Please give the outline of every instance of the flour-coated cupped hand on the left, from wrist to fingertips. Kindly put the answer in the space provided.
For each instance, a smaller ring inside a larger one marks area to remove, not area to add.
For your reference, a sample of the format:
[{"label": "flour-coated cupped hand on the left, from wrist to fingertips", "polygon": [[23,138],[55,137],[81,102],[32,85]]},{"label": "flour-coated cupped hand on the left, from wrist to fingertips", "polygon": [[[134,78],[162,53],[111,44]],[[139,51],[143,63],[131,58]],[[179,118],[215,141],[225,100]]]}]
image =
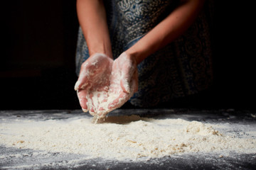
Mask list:
[{"label": "flour-coated cupped hand on the left, from wrist to fingertips", "polygon": [[112,63],[107,55],[96,53],[82,64],[75,90],[83,111],[89,110],[93,115],[102,110],[108,97]]}]

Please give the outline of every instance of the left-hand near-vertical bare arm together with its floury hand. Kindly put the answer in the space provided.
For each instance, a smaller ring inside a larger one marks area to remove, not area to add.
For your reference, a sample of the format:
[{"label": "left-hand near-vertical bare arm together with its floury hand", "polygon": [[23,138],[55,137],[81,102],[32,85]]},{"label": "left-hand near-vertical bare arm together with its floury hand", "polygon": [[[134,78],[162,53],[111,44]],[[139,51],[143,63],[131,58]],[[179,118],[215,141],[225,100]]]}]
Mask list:
[{"label": "left-hand near-vertical bare arm together with its floury hand", "polygon": [[[82,63],[75,90],[83,111],[94,113],[99,108],[93,103],[93,91],[107,86],[112,68],[112,48],[102,0],[77,0],[78,21],[85,36],[90,57]],[[91,89],[91,88],[94,89]],[[95,110],[96,109],[96,110]]]}]

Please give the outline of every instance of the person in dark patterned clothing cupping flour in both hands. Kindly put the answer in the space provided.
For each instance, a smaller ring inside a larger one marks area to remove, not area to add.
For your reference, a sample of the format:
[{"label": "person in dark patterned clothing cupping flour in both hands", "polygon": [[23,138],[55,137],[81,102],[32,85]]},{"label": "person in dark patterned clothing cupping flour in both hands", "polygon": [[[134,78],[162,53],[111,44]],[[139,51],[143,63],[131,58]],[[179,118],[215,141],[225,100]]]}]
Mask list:
[{"label": "person in dark patterned clothing cupping flour in both hands", "polygon": [[204,4],[78,0],[75,90],[82,110],[104,117],[128,100],[150,107],[207,89],[212,72]]}]

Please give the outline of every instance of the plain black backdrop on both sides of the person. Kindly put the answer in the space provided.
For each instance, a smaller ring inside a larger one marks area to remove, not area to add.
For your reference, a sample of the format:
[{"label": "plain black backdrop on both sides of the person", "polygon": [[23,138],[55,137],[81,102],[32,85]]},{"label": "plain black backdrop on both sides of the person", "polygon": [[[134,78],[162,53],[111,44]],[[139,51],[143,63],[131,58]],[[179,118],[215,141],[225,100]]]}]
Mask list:
[{"label": "plain black backdrop on both sides of the person", "polygon": [[[77,80],[75,3],[2,2],[0,110],[80,108],[73,90]],[[255,110],[255,39],[249,8],[235,1],[215,1],[214,84],[208,91],[164,107]]]}]

